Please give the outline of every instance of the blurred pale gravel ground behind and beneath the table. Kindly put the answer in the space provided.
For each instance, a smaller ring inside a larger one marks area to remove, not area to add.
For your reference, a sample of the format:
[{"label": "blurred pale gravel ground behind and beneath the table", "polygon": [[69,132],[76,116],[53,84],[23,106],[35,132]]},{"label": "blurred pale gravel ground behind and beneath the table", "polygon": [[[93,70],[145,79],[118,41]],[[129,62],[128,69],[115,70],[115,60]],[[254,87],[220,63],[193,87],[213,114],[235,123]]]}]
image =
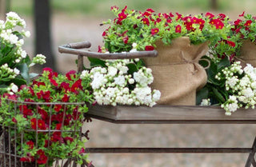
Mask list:
[{"label": "blurred pale gravel ground behind and beneath the table", "polygon": [[[52,20],[54,53],[58,70],[76,70],[76,56],[58,54],[58,46],[70,42],[90,41],[91,50],[102,45],[101,20],[86,16],[54,15]],[[33,54],[33,24],[26,19],[32,36],[26,40],[28,54]],[[86,123],[90,140],[86,147],[251,147],[256,125],[115,125],[93,120]],[[97,167],[241,167],[248,154],[90,154]]]}]

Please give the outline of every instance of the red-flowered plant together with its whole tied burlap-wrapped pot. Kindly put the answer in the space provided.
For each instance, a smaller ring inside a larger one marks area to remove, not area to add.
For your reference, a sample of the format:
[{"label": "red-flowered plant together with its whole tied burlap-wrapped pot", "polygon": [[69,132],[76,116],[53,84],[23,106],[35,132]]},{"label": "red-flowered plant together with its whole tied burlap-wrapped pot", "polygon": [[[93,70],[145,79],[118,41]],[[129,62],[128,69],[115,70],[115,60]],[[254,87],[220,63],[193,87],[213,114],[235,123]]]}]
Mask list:
[{"label": "red-flowered plant together with its whole tied burlap-wrapped pot", "polygon": [[[152,69],[153,89],[162,97],[158,104],[194,105],[196,89],[206,84],[206,72],[198,60],[208,51],[208,45],[227,39],[229,18],[225,14],[199,15],[155,14],[111,7],[117,18],[103,22],[109,27],[103,32],[105,46],[101,52],[158,51],[157,58],[143,61]],[[175,79],[173,79],[175,78]]]}]

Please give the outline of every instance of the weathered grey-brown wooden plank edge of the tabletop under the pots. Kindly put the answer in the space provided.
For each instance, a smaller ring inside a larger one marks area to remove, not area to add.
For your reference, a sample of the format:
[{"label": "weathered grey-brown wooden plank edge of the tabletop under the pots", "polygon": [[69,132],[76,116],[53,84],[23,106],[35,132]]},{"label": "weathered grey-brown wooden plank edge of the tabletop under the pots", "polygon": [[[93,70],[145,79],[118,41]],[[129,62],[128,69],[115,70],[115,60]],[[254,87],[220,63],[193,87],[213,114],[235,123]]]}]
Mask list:
[{"label": "weathered grey-brown wooden plank edge of the tabletop under the pots", "polygon": [[152,123],[171,123],[170,121],[187,123],[256,123],[256,109],[238,109],[231,116],[226,116],[224,109],[214,106],[170,106],[157,105],[152,108],[146,106],[110,106],[95,105],[89,109],[90,117],[106,119],[115,123],[138,123],[141,121]]}]

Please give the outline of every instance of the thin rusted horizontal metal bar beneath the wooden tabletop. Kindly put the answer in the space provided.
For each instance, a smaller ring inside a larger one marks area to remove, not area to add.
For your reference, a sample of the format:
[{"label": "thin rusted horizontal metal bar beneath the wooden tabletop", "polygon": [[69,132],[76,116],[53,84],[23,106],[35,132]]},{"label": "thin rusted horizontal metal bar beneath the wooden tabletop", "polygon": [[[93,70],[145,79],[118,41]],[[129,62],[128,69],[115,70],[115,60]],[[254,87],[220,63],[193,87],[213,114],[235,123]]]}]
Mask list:
[{"label": "thin rusted horizontal metal bar beneath the wooden tabletop", "polygon": [[251,153],[251,148],[87,148],[87,153]]}]

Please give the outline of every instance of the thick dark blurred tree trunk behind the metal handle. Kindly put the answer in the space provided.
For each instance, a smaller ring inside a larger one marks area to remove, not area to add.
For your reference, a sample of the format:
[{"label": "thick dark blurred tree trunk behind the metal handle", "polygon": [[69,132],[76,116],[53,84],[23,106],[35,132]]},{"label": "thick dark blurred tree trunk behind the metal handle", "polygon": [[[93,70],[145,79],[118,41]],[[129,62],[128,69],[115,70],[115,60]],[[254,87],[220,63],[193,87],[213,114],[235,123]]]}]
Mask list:
[{"label": "thick dark blurred tree trunk behind the metal handle", "polygon": [[[50,16],[50,0],[34,0],[35,54],[44,54],[46,56],[44,67],[56,70],[52,51]],[[41,72],[42,66],[36,66],[36,69]]]}]

